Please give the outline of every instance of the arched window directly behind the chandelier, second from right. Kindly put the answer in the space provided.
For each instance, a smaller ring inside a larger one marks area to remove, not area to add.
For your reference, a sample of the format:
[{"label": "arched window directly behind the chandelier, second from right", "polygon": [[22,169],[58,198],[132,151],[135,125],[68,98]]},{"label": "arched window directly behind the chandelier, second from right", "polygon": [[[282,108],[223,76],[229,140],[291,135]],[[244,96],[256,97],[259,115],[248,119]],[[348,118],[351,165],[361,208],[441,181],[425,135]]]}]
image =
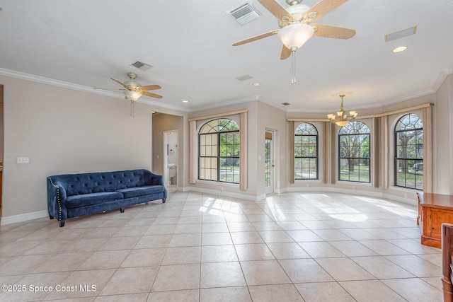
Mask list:
[{"label": "arched window directly behind the chandelier, second from right", "polygon": [[369,128],[363,122],[350,122],[338,132],[338,179],[370,182]]}]

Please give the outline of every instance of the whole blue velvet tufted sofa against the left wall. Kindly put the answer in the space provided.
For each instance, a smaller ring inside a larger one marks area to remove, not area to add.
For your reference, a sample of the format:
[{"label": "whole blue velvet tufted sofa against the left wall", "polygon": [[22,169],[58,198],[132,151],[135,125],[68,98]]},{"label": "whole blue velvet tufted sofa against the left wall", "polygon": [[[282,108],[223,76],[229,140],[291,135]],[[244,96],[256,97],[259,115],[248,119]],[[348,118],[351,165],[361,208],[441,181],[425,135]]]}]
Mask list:
[{"label": "whole blue velvet tufted sofa against the left wall", "polygon": [[167,190],[162,175],[149,170],[52,175],[47,177],[47,211],[59,226],[69,218],[120,209],[162,199]]}]

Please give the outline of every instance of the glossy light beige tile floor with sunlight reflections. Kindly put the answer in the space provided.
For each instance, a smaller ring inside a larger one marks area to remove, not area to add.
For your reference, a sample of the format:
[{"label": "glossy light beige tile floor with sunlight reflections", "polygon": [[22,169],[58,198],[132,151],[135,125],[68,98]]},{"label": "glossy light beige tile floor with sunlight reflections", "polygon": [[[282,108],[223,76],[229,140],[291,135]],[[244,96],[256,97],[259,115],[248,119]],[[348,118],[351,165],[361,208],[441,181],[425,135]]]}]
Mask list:
[{"label": "glossy light beige tile floor with sunlight reflections", "polygon": [[416,216],[359,195],[173,191],[63,228],[9,224],[0,301],[442,301],[441,251]]}]

